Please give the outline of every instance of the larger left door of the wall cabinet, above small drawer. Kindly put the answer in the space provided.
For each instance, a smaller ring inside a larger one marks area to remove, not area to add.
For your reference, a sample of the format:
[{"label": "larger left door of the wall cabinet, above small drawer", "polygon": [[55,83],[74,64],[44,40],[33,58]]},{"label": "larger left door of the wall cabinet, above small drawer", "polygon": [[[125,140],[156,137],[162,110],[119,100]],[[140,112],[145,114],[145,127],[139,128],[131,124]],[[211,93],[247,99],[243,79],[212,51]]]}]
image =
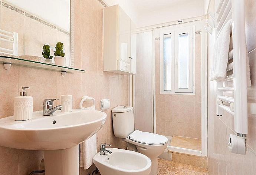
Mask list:
[{"label": "larger left door of the wall cabinet, above small drawer", "polygon": [[124,10],[119,7],[118,18],[118,60],[122,60],[130,64],[131,59],[131,20]]}]

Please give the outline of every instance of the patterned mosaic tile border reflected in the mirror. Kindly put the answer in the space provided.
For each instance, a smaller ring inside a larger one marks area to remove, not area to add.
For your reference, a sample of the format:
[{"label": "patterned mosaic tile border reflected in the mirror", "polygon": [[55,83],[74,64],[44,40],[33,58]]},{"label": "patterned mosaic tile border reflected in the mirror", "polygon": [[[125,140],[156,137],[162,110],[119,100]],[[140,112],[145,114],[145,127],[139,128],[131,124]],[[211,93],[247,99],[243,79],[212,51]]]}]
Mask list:
[{"label": "patterned mosaic tile border reflected in the mirror", "polygon": [[[98,1],[102,1],[102,0],[98,0]],[[102,2],[103,2],[103,1],[102,1]],[[104,3],[104,2],[103,2],[103,3]],[[36,16],[34,16],[34,15],[32,15],[32,14],[29,14],[29,13],[23,11],[23,10],[20,10],[20,9],[18,9],[17,7],[14,7],[14,6],[10,5],[10,4],[7,4],[7,3],[5,3],[5,2],[3,2],[3,1],[1,1],[1,0],[0,0],[0,5],[6,7],[7,9],[14,10],[14,11],[20,13],[20,14],[23,14],[23,15],[25,15],[26,17],[29,17],[29,18],[31,18],[31,19],[33,19],[33,20],[36,20],[36,21],[39,22],[39,23],[45,24],[46,26],[52,27],[53,29],[56,29],[56,30],[58,30],[59,32],[62,32],[62,33],[65,33],[65,34],[69,35],[69,32],[67,32],[66,30],[60,29],[59,27],[56,27],[55,25],[53,25],[53,24],[51,24],[51,23],[48,23],[48,22],[46,22],[46,21],[44,21],[44,20],[42,20],[42,19],[40,19],[40,18],[38,18],[38,17],[36,17]]]}]

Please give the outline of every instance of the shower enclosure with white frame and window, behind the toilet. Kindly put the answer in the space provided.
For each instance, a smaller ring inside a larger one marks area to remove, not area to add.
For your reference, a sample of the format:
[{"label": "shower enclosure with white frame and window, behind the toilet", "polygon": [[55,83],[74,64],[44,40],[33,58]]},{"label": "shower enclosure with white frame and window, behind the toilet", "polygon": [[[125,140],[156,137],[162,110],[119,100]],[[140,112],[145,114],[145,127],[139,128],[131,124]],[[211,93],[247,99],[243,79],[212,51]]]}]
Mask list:
[{"label": "shower enclosure with white frame and window, behind the toilet", "polygon": [[166,136],[168,151],[200,156],[207,154],[203,23],[137,33],[137,75],[132,77],[135,129]]}]

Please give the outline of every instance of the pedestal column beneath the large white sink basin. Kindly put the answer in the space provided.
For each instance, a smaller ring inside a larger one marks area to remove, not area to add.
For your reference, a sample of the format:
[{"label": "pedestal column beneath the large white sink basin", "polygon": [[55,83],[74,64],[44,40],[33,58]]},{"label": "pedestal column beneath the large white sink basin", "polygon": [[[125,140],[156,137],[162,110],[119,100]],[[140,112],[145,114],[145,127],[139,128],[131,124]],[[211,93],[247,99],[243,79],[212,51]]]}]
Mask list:
[{"label": "pedestal column beneath the large white sink basin", "polygon": [[79,145],[44,151],[45,175],[79,175]]}]

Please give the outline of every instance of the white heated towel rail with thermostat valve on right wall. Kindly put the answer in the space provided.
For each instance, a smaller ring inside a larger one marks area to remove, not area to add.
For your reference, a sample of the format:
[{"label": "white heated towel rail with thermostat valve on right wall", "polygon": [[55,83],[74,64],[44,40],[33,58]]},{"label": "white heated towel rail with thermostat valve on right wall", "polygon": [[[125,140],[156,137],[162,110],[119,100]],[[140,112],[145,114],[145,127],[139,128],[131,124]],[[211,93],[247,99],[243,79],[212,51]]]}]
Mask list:
[{"label": "white heated towel rail with thermostat valve on right wall", "polygon": [[232,49],[229,52],[227,76],[217,82],[218,116],[226,111],[234,116],[234,130],[237,135],[229,135],[229,150],[246,153],[247,125],[247,75],[244,0],[220,0],[216,10],[216,39],[224,25],[232,19]]}]

